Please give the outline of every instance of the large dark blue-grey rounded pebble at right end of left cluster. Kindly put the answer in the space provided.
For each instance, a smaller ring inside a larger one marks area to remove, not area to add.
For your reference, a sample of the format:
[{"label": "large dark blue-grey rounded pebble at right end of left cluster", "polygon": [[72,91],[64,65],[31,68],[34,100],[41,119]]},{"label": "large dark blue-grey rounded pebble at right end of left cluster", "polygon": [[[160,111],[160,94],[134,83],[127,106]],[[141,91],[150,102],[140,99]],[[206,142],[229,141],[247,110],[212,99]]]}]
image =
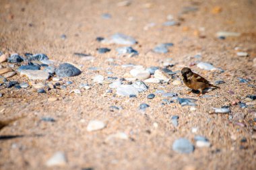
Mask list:
[{"label": "large dark blue-grey rounded pebble at right end of left cluster", "polygon": [[69,63],[64,63],[56,69],[56,75],[59,77],[73,77],[81,73],[79,69]]}]

